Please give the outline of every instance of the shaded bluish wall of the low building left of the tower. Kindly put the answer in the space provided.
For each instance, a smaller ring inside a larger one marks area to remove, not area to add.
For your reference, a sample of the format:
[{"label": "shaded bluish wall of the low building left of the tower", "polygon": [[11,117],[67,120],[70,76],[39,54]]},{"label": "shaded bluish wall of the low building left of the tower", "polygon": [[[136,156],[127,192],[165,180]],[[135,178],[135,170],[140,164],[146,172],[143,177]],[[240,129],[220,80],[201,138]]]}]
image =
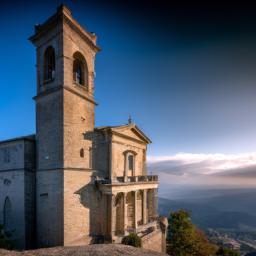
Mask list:
[{"label": "shaded bluish wall of the low building left of the tower", "polygon": [[0,143],[0,223],[8,198],[6,229],[12,231],[17,248],[31,248],[34,236],[35,208],[35,145],[34,140],[14,139]]}]

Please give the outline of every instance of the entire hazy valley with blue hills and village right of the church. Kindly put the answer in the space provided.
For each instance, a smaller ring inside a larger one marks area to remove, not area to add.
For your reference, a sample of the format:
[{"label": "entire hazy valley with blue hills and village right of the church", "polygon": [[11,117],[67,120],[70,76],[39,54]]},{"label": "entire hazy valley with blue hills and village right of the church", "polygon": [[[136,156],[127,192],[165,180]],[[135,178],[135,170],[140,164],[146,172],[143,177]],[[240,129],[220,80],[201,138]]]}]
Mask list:
[{"label": "entire hazy valley with blue hills and village right of the church", "polygon": [[190,188],[178,193],[165,188],[159,192],[159,214],[186,209],[211,242],[246,255],[256,252],[255,195],[256,189]]}]

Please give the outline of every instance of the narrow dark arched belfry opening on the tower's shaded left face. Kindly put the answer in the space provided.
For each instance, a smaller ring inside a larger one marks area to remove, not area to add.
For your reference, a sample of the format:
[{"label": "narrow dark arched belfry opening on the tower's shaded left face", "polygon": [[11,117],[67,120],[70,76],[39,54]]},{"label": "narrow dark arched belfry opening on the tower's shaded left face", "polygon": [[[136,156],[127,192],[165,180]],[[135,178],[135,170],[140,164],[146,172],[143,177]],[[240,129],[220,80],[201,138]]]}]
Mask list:
[{"label": "narrow dark arched belfry opening on the tower's shaded left face", "polygon": [[44,53],[44,81],[55,77],[55,52],[52,46],[47,47]]}]

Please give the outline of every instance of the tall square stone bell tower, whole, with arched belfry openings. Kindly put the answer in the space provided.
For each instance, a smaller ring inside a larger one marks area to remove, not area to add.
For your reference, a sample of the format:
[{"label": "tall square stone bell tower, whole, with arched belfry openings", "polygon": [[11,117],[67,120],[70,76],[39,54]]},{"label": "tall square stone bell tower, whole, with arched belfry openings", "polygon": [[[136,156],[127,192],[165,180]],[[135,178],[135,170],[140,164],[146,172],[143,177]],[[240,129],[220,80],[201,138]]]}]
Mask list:
[{"label": "tall square stone bell tower, whole, with arched belfry openings", "polygon": [[[88,243],[93,189],[96,36],[60,6],[35,26],[36,226],[38,246]],[[90,206],[89,206],[90,205]]]}]

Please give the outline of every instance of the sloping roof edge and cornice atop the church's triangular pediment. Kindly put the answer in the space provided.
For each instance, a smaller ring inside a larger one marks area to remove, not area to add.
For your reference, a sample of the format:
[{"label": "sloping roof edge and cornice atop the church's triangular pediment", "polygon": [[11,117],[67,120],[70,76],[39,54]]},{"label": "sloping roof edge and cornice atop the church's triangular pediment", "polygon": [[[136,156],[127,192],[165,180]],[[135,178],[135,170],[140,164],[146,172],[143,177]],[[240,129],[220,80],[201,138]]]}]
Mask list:
[{"label": "sloping roof edge and cornice atop the church's triangular pediment", "polygon": [[125,124],[125,125],[116,125],[116,126],[100,126],[95,128],[96,131],[107,131],[107,132],[115,132],[115,133],[120,133],[121,130],[126,130],[126,129],[132,130],[147,144],[152,143],[152,141],[145,135],[145,133],[143,133],[142,130],[139,129],[139,127],[134,123]]}]

